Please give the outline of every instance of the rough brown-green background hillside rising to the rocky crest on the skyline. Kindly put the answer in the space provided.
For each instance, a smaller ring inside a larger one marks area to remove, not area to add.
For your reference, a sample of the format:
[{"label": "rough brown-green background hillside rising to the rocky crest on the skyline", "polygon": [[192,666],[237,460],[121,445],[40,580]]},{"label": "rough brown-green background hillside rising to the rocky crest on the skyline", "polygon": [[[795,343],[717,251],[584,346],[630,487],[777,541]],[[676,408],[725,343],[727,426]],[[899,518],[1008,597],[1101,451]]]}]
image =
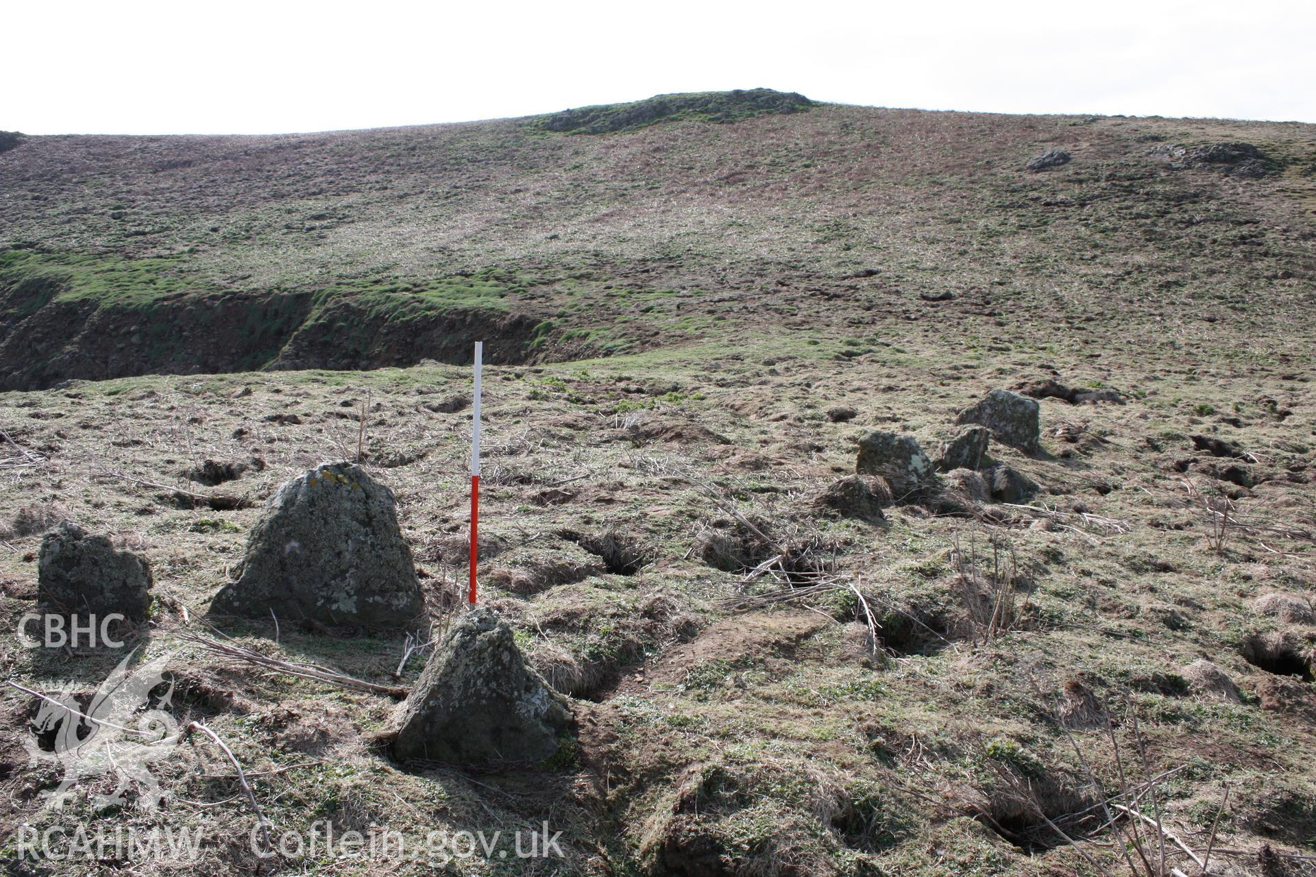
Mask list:
[{"label": "rough brown-green background hillside rising to the rocky crest on the skyline", "polygon": [[[759,97],[287,137],[21,138],[0,156],[0,364],[32,387],[426,358],[371,335],[308,363],[299,333],[326,308],[434,339],[462,334],[457,316],[521,314],[538,333],[505,362],[728,326],[859,338],[932,329],[920,296],[942,291],[954,298],[934,306],[937,329],[966,343],[1029,322],[1061,343],[1213,359],[1273,352],[1262,339],[1305,305],[1311,126],[744,95]],[[1263,176],[1202,160],[1237,141],[1259,150]],[[1025,170],[1057,149],[1073,160]],[[208,308],[237,308],[253,329],[213,350],[108,341],[143,321],[204,335]],[[21,341],[33,337],[36,356]]]}]

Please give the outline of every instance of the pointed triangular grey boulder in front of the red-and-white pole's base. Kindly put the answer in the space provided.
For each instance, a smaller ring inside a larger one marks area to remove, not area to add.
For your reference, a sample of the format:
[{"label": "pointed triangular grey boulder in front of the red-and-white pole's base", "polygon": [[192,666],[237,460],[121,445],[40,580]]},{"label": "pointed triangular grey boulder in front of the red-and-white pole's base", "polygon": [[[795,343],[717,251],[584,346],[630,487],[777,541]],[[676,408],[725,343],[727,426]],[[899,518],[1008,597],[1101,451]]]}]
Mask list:
[{"label": "pointed triangular grey boulder in front of the red-and-white pole's base", "polygon": [[541,761],[574,721],[492,609],[458,621],[403,705],[393,756],[449,764]]}]

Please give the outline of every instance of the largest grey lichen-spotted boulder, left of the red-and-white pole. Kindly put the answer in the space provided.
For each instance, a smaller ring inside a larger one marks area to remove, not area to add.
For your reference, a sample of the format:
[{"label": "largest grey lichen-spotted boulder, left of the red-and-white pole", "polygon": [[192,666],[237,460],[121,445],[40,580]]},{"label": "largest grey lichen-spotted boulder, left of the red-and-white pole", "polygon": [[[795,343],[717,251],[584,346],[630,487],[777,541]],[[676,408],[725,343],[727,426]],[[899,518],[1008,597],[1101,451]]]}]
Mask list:
[{"label": "largest grey lichen-spotted boulder, left of the red-and-white pole", "polygon": [[325,463],[274,494],[238,580],[213,609],[234,615],[403,630],[425,600],[392,492],[351,463]]}]

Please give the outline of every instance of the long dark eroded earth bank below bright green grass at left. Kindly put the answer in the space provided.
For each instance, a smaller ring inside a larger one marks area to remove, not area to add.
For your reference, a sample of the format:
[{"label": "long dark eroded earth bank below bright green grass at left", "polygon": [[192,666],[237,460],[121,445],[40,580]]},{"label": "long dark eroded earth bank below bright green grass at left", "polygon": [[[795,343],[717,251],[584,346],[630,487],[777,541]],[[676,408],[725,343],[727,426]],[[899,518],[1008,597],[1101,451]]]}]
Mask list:
[{"label": "long dark eroded earth bank below bright green grass at left", "polygon": [[32,301],[26,287],[0,285],[0,372],[7,375],[0,389],[147,373],[370,369],[422,359],[463,364],[471,360],[475,341],[486,341],[488,363],[583,352],[580,344],[536,346],[545,330],[532,313],[482,308],[408,313],[403,304],[387,310],[350,295],[324,306],[311,293],[179,295],[153,302],[150,321],[143,322],[141,310],[129,305],[97,308],[76,298],[47,304]]}]

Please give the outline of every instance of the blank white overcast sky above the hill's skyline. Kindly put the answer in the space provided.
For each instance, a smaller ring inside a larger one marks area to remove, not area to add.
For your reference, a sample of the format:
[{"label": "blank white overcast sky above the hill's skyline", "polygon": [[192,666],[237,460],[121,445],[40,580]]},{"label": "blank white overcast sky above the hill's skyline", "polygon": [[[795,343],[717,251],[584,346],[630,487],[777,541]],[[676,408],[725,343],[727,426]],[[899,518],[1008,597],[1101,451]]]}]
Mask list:
[{"label": "blank white overcast sky above the hill's skyline", "polygon": [[0,130],[29,134],[379,128],[755,87],[879,107],[1316,122],[1312,0],[0,9]]}]

